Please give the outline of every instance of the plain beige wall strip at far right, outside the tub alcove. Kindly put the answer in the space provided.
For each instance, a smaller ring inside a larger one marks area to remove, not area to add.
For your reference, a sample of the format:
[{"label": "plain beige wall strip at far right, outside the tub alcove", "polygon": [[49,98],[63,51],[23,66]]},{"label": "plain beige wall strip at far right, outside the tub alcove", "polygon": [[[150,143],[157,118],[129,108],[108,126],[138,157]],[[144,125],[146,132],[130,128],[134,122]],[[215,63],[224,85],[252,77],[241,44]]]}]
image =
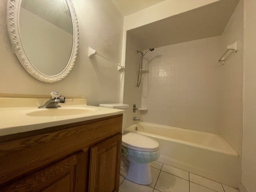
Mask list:
[{"label": "plain beige wall strip at far right, outside the tub alcove", "polygon": [[256,191],[256,1],[245,0],[242,184]]}]

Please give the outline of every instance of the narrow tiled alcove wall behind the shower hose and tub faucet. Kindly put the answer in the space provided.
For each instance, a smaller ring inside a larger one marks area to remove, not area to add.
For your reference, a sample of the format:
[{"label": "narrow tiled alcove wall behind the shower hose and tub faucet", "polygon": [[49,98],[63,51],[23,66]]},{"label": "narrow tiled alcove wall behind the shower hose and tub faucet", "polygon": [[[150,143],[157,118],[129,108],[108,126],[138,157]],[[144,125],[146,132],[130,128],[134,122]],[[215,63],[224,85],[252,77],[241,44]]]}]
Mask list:
[{"label": "narrow tiled alcove wall behind the shower hose and tub faucet", "polygon": [[140,50],[142,47],[136,42],[136,40],[127,34],[126,43],[126,61],[125,61],[125,75],[124,75],[124,103],[130,105],[128,116],[125,122],[125,127],[138,123],[133,121],[133,117],[140,118],[140,111],[133,113],[133,104],[136,107],[141,107],[141,91],[142,83],[140,87],[137,87],[138,67],[140,62],[140,53],[136,53],[136,50]]}]

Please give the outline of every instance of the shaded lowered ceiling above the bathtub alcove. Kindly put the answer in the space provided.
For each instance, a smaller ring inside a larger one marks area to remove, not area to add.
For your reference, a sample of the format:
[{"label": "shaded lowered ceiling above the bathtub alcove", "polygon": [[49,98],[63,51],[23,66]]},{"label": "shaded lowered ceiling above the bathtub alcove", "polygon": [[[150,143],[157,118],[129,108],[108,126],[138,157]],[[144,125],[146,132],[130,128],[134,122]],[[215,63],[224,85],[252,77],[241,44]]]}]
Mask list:
[{"label": "shaded lowered ceiling above the bathtub alcove", "polygon": [[128,33],[143,49],[161,47],[221,35],[239,0],[221,0],[184,12]]}]

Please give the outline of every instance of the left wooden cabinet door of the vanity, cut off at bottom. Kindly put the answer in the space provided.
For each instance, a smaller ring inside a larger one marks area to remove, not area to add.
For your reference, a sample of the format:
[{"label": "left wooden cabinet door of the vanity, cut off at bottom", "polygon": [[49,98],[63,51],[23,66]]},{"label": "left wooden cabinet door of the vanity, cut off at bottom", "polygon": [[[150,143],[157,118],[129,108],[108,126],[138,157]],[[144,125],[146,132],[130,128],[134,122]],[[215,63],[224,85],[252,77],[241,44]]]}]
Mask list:
[{"label": "left wooden cabinet door of the vanity, cut off at bottom", "polygon": [[16,178],[0,188],[0,192],[84,192],[87,162],[88,153],[74,154],[39,171]]}]

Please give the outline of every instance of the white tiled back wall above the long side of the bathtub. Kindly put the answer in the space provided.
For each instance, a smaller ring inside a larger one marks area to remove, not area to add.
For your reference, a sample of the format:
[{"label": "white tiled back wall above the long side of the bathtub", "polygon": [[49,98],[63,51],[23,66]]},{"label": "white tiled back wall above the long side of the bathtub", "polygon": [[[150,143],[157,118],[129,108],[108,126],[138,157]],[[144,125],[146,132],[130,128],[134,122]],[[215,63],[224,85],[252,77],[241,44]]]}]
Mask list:
[{"label": "white tiled back wall above the long side of the bathtub", "polygon": [[220,36],[156,48],[144,68],[143,121],[218,133]]}]

